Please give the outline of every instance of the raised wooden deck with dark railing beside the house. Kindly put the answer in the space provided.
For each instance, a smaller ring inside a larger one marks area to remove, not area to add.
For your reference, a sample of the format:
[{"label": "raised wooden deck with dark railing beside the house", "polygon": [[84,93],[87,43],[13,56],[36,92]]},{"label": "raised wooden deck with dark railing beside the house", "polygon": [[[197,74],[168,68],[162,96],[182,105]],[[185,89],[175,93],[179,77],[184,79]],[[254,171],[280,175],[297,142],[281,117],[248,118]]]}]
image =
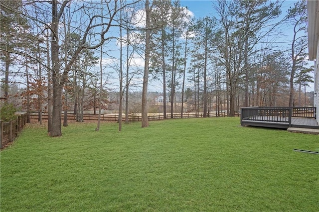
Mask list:
[{"label": "raised wooden deck with dark railing beside the house", "polygon": [[314,107],[245,107],[241,125],[288,129],[289,127],[319,129]]}]

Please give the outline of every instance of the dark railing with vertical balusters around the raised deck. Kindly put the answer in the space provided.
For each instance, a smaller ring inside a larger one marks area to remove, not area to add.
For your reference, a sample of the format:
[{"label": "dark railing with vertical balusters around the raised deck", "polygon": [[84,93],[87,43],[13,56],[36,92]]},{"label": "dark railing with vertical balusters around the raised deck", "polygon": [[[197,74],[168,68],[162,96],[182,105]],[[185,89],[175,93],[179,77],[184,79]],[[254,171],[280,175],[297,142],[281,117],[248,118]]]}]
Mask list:
[{"label": "dark railing with vertical balusters around the raised deck", "polygon": [[316,107],[242,107],[243,120],[289,123],[292,117],[316,118]]}]

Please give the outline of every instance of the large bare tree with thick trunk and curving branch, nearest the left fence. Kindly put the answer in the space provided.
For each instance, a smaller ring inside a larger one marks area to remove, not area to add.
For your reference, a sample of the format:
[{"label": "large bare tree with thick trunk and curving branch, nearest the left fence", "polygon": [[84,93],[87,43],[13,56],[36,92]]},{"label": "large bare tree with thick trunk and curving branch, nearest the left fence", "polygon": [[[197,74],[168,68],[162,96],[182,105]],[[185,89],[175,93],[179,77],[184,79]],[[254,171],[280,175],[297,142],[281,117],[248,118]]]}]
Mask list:
[{"label": "large bare tree with thick trunk and curving branch, nearest the left fence", "polygon": [[[88,17],[88,21],[85,24],[85,29],[83,30],[83,35],[81,38],[81,41],[77,47],[77,49],[74,52],[74,55],[70,58],[67,64],[65,64],[64,71],[60,72],[61,65],[59,60],[59,28],[58,24],[61,21],[61,16],[66,8],[67,4],[69,3],[69,0],[64,0],[62,3],[60,3],[57,0],[51,1],[51,10],[52,10],[52,19],[51,24],[47,25],[44,21],[41,21],[42,24],[46,24],[48,28],[51,30],[51,61],[52,61],[52,86],[53,86],[53,110],[52,110],[52,126],[49,129],[50,136],[60,136],[62,135],[61,132],[61,110],[62,110],[62,88],[65,84],[66,80],[68,79],[68,73],[72,70],[72,65],[76,61],[76,58],[78,55],[85,49],[96,49],[99,48],[103,43],[110,39],[115,39],[114,36],[106,37],[108,32],[110,31],[110,28],[112,26],[118,26],[117,23],[114,22],[115,15],[123,8],[126,7],[126,5],[123,5],[122,7],[118,6],[117,1],[111,1],[106,2],[105,8],[107,8],[108,14],[104,16],[104,20],[106,21],[96,21],[98,18],[101,17],[100,14],[90,14],[85,10],[84,13]],[[83,2],[85,3],[85,2]],[[135,2],[130,2],[128,4],[134,4]],[[79,10],[85,9],[85,6],[78,7]],[[92,11],[92,10],[91,10]],[[32,17],[30,17],[32,18]],[[104,28],[104,31],[100,34],[97,34],[94,32],[94,30],[98,27],[106,26]],[[91,32],[94,32],[96,36],[100,36],[99,40],[97,42],[88,44],[87,39]]]}]

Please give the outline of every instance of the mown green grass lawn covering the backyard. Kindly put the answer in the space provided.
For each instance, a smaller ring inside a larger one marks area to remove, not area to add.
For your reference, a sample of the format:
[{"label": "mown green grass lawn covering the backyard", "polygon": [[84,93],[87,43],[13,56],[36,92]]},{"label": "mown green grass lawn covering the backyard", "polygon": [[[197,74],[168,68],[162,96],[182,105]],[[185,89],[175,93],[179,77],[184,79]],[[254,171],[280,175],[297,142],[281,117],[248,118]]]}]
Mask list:
[{"label": "mown green grass lawn covering the backyard", "polygon": [[1,151],[6,211],[318,211],[319,136],[239,118],[26,127]]}]

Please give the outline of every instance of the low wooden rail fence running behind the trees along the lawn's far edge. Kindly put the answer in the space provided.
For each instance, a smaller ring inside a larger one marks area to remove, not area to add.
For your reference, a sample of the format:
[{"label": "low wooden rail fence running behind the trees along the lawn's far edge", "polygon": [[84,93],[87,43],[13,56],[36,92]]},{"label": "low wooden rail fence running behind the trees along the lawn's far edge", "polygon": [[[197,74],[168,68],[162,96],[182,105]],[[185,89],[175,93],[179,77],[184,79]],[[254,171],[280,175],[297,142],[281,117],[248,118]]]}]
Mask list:
[{"label": "low wooden rail fence running behind the trees along the lawn's far edge", "polygon": [[[212,112],[212,113],[207,113],[207,117],[218,117],[218,116],[227,116],[227,112],[225,111],[219,111],[217,112]],[[76,114],[73,113],[68,113],[67,115],[68,120],[76,120]],[[182,118],[198,118],[198,117],[203,117],[203,113],[183,113]],[[38,119],[38,113],[37,112],[32,112],[30,113],[30,118],[31,119]],[[61,114],[61,118],[63,119],[63,114]],[[83,120],[98,120],[99,115],[98,114],[83,114]],[[164,119],[163,114],[154,114],[154,115],[149,115],[148,116],[150,121],[153,120],[161,120]],[[166,114],[166,118],[171,118],[170,113]],[[172,118],[181,118],[180,113],[174,113]],[[48,119],[48,114],[47,113],[42,113],[42,119],[47,120]],[[142,117],[140,114],[129,114],[128,115],[129,121],[141,121]],[[102,114],[101,115],[101,121],[118,121],[119,120],[119,115],[118,114]],[[122,115],[122,120],[125,121],[125,115]]]}]

